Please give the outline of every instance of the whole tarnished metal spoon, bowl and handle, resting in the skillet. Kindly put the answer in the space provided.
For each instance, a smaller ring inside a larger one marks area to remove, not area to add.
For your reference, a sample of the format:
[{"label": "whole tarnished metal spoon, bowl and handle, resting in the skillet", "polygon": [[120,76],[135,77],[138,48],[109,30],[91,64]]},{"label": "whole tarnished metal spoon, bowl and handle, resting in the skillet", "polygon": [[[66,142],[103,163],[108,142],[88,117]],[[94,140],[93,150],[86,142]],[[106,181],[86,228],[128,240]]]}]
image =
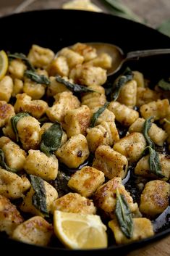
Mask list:
[{"label": "whole tarnished metal spoon, bowl and handle, resting in the skillet", "polygon": [[149,57],[159,54],[170,54],[170,49],[150,49],[150,50],[140,50],[140,51],[129,51],[126,55],[119,46],[114,44],[106,43],[85,43],[93,46],[97,53],[102,52],[108,53],[112,57],[112,65],[109,70],[107,70],[107,75],[113,75],[116,73],[123,65],[124,62],[130,59],[139,59],[140,57]]}]

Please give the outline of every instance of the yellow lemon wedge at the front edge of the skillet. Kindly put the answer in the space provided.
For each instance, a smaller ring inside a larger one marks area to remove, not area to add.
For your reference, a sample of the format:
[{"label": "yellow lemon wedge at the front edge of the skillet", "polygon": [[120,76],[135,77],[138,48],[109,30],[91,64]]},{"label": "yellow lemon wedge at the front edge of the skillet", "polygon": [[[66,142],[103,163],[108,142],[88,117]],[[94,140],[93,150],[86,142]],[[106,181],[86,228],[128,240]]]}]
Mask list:
[{"label": "yellow lemon wedge at the front edge of the skillet", "polygon": [[106,226],[98,215],[54,211],[54,233],[71,249],[107,247]]}]

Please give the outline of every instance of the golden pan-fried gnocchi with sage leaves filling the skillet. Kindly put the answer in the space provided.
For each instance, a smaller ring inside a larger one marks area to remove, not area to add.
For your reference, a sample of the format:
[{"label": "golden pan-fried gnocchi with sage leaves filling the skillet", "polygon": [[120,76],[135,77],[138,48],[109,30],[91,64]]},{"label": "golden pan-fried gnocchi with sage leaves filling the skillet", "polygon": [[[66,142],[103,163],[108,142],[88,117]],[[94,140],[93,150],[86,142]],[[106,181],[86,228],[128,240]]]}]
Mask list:
[{"label": "golden pan-fried gnocchi with sage leaves filling the skillet", "polygon": [[159,232],[170,197],[166,91],[140,70],[108,80],[112,57],[80,42],[12,56],[0,80],[0,232],[51,246],[66,213],[100,217],[112,244]]}]

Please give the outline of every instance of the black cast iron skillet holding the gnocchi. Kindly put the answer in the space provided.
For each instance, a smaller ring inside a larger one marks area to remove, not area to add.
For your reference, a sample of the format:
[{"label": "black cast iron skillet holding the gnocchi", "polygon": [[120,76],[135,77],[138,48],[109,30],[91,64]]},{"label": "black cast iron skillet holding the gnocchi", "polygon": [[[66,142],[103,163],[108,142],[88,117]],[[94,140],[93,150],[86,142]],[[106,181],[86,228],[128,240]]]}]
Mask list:
[{"label": "black cast iron skillet holding the gnocchi", "polygon": [[[140,49],[170,48],[170,38],[137,22],[95,12],[73,10],[43,10],[10,15],[0,19],[0,49],[27,54],[32,44],[58,51],[76,42],[103,41],[120,46],[124,53]],[[145,77],[156,80],[170,73],[170,54],[129,62],[133,70],[140,70]],[[127,64],[126,64],[127,65]],[[123,68],[123,67],[122,67]],[[38,247],[0,238],[1,252],[17,255],[124,255],[128,251],[152,244],[170,234],[170,228],[132,244],[111,246],[108,249],[69,250],[59,246]]]}]

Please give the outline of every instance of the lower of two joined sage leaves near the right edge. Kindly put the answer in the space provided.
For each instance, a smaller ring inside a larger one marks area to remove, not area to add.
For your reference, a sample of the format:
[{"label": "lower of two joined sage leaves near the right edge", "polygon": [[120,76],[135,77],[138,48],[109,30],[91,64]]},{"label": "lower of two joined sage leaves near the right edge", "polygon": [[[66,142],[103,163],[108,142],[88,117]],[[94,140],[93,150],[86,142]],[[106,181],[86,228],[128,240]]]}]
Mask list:
[{"label": "lower of two joined sage leaves near the right edge", "polygon": [[147,146],[146,149],[149,149],[150,173],[155,174],[159,178],[165,178],[165,176],[162,174],[158,152],[156,152],[156,150],[152,149],[150,146]]}]

